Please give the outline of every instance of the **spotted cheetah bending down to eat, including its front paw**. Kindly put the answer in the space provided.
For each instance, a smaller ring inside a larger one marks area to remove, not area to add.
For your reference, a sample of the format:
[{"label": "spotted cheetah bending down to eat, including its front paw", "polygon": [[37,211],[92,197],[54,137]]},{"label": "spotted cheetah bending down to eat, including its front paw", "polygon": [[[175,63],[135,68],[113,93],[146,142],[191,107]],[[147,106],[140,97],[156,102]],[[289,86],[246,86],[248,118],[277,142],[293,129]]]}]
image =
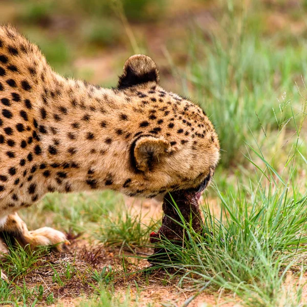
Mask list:
[{"label": "spotted cheetah bending down to eat, including its front paw", "polygon": [[4,233],[31,248],[67,242],[49,227],[29,231],[17,214],[48,192],[203,189],[219,158],[206,113],[164,90],[148,56],[129,57],[106,89],[58,75],[36,45],[0,26],[0,250]]}]

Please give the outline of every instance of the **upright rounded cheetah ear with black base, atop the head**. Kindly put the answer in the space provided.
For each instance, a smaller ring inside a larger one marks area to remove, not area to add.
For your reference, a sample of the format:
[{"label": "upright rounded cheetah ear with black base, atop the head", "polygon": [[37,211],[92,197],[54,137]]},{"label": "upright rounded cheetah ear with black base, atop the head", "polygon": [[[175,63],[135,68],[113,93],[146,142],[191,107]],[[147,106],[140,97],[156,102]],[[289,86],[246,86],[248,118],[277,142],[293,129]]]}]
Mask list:
[{"label": "upright rounded cheetah ear with black base, atop the head", "polygon": [[130,56],[124,64],[123,74],[119,77],[118,88],[125,89],[147,82],[159,83],[159,71],[156,63],[143,54]]}]

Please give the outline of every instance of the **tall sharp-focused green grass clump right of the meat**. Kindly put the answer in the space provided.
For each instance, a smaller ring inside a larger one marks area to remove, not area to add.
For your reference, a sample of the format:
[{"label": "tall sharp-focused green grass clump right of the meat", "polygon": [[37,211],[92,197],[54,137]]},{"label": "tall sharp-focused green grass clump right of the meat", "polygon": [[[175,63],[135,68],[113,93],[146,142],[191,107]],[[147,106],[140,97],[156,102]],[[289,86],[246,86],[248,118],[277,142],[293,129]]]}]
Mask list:
[{"label": "tall sharp-focused green grass clump right of the meat", "polygon": [[[303,110],[305,106],[304,99]],[[247,145],[260,160],[256,162],[251,156],[247,157],[254,167],[254,177],[250,176],[246,187],[228,186],[223,191],[216,184],[214,190],[222,210],[220,216],[213,216],[206,203],[204,232],[208,235],[195,233],[182,217],[185,248],[165,239],[162,246],[169,261],[157,267],[175,268],[181,276],[181,284],[193,281],[200,288],[231,291],[243,300],[244,306],[273,307],[280,305],[283,299],[282,306],[302,303],[307,194],[297,166],[301,165],[301,160],[306,162],[300,151],[305,138],[300,137],[305,117],[303,112],[292,117],[296,127],[295,142],[281,171],[272,166],[273,157],[266,156],[260,146]],[[284,291],[287,276],[291,275],[293,284],[288,285],[287,293],[292,295],[288,296]],[[294,279],[300,281],[299,286]]]}]

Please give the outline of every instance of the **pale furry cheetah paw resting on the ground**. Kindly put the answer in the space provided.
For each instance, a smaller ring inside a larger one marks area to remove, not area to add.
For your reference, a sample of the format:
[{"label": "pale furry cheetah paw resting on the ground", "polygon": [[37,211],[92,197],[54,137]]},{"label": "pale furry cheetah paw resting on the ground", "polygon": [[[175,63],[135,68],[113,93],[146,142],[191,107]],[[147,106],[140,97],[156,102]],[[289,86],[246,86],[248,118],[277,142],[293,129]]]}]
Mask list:
[{"label": "pale furry cheetah paw resting on the ground", "polygon": [[63,245],[70,245],[70,242],[67,240],[65,234],[50,227],[42,227],[29,231],[29,233],[31,236],[29,242],[31,248],[35,248],[39,245],[52,245],[56,248],[56,250],[61,251]]}]

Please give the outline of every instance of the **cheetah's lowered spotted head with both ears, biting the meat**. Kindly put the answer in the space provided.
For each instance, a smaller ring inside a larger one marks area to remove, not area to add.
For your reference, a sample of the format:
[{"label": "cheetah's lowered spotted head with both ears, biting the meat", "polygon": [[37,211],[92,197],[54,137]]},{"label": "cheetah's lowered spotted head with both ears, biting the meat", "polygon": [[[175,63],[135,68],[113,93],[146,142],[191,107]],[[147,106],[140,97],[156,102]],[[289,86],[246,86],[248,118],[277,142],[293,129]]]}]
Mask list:
[{"label": "cheetah's lowered spotted head with both ears, biting the meat", "polygon": [[162,89],[157,65],[145,55],[127,59],[118,89],[129,97],[138,127],[129,141],[130,180],[122,192],[149,198],[181,189],[201,192],[220,159],[218,138],[205,112]]}]

